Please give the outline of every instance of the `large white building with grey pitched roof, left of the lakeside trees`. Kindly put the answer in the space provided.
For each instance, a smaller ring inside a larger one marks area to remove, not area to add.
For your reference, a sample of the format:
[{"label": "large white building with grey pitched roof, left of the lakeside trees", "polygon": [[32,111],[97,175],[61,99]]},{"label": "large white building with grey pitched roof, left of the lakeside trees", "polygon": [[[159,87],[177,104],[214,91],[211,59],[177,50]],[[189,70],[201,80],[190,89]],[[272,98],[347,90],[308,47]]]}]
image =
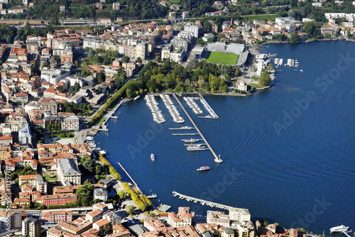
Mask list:
[{"label": "large white building with grey pitched roof, left of the lakeside trees", "polygon": [[58,179],[64,186],[80,185],[82,174],[77,163],[72,158],[65,158],[57,161]]}]

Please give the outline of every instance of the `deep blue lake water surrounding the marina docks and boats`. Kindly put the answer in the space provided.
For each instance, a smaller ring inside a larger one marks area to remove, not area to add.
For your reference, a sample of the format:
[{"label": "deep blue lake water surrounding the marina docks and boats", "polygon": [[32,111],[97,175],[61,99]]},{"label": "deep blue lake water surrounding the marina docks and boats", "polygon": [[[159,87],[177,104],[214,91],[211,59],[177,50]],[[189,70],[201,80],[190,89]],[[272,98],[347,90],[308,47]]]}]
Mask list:
[{"label": "deep blue lake water surrounding the marina docks and boats", "polygon": [[[116,162],[121,162],[143,192],[158,194],[155,205],[160,201],[173,211],[178,206],[191,206],[197,214],[207,210],[172,197],[175,190],[249,209],[252,219],[287,228],[317,234],[341,224],[355,228],[354,43],[280,44],[260,50],[277,53],[284,63],[297,59],[300,67],[281,66],[273,87],[251,97],[205,96],[218,119],[197,118],[179,97],[221,154],[221,164],[208,150],[188,152],[183,137],[171,136],[168,128],[191,124],[177,103],[185,123],[173,123],[158,97],[167,123],[153,123],[144,99],[129,101],[119,109],[119,120],[109,121],[109,136],[100,132],[96,142],[118,170]],[[202,165],[211,170],[197,172]]]}]

